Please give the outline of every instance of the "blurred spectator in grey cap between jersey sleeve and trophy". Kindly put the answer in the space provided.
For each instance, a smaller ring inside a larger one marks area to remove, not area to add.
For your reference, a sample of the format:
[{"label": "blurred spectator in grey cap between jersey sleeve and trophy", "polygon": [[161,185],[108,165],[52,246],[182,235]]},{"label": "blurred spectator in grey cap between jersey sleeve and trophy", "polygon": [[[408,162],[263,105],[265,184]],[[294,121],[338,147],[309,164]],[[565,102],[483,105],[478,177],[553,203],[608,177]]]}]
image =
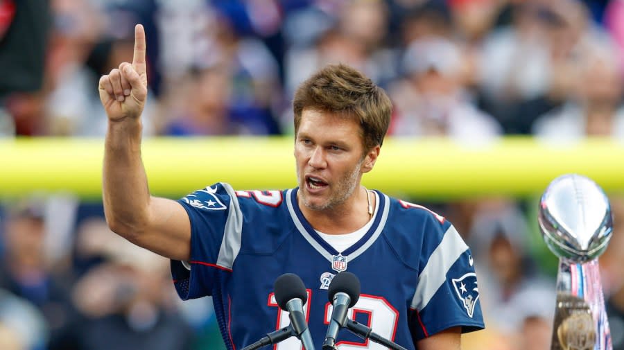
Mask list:
[{"label": "blurred spectator in grey cap between jersey sleeve and trophy", "polygon": [[506,335],[527,326],[527,317],[553,320],[555,282],[535,268],[527,235],[522,213],[514,205],[499,203],[476,211],[467,240],[475,256],[489,327]]}]

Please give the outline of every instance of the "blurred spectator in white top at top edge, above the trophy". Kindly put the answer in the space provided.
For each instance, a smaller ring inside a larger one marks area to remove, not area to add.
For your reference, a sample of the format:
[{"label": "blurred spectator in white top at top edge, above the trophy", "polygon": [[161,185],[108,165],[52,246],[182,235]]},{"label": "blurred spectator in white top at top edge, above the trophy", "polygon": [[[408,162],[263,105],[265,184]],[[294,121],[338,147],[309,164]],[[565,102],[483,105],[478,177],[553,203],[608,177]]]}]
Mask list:
[{"label": "blurred spectator in white top at top edge, above the trophy", "polygon": [[584,55],[608,38],[578,0],[533,0],[515,10],[511,31],[499,30],[485,46],[481,102],[505,132],[528,134],[573,94]]}]

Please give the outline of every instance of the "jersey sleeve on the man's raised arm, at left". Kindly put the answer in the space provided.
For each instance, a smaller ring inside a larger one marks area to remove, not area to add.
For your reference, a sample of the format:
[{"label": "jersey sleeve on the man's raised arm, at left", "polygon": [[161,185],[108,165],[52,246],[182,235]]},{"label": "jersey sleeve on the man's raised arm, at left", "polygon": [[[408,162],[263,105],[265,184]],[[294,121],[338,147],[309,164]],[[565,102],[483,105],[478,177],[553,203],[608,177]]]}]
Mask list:
[{"label": "jersey sleeve on the man's raised arm, at left", "polygon": [[218,183],[178,200],[191,222],[191,259],[171,261],[171,274],[180,298],[211,295],[218,273],[232,272],[241,247],[243,213],[232,186]]}]

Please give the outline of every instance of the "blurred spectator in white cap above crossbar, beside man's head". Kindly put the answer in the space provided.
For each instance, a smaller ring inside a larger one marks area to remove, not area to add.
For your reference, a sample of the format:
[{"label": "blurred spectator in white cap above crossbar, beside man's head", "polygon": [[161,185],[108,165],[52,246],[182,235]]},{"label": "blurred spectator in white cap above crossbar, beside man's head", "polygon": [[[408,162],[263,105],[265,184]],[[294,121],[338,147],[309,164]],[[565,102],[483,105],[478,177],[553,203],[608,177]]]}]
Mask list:
[{"label": "blurred spectator in white cap above crossbar, beside man's head", "polygon": [[410,44],[403,64],[409,78],[390,90],[397,136],[447,136],[462,143],[487,143],[501,134],[496,121],[469,102],[462,85],[458,46],[442,38]]}]

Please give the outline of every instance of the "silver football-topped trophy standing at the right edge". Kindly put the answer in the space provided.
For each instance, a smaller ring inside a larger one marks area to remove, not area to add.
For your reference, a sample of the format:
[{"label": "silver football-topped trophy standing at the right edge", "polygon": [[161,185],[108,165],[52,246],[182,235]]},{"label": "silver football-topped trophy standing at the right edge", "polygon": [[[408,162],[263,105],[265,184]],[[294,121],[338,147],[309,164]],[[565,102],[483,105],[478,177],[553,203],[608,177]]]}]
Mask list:
[{"label": "silver football-topped trophy standing at the right edge", "polygon": [[587,177],[562,175],[541,196],[537,220],[559,256],[551,350],[612,350],[598,270],[613,231],[607,195]]}]

